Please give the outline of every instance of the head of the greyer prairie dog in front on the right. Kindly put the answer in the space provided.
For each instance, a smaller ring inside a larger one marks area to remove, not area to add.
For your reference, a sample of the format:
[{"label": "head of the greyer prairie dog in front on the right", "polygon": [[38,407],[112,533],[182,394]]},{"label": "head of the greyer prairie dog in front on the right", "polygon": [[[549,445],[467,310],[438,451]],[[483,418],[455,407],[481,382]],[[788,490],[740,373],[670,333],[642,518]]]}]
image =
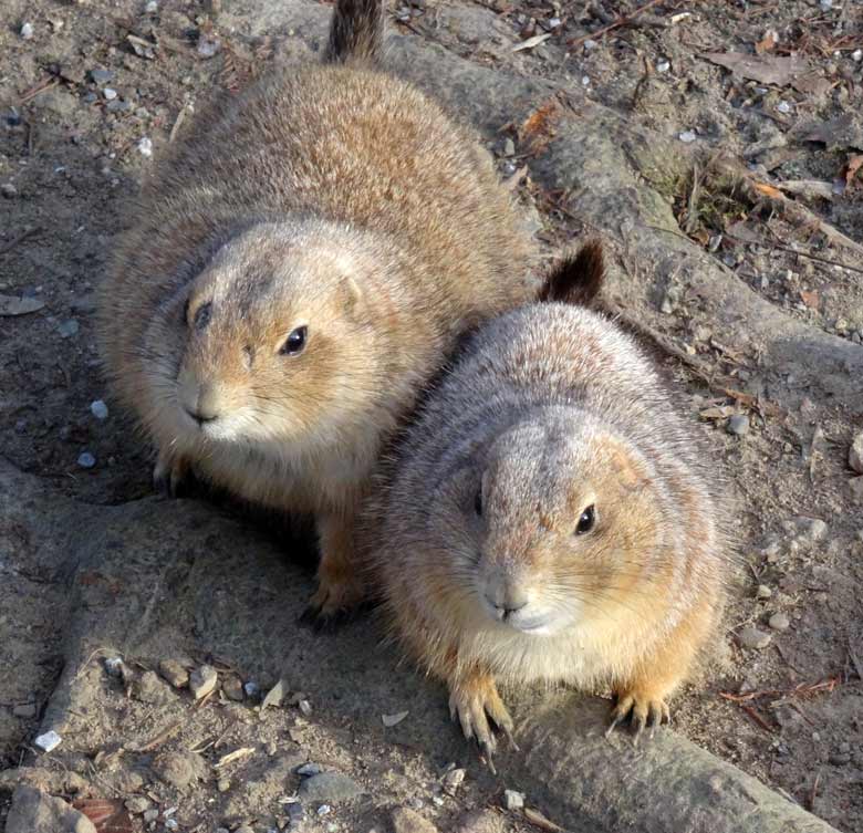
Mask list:
[{"label": "head of the greyer prairie dog in front on the right", "polygon": [[[532,414],[444,487],[453,574],[464,615],[547,637],[641,604],[659,543],[651,467],[581,412]],[[457,504],[453,506],[453,504]],[[454,534],[455,532],[455,534]]]}]

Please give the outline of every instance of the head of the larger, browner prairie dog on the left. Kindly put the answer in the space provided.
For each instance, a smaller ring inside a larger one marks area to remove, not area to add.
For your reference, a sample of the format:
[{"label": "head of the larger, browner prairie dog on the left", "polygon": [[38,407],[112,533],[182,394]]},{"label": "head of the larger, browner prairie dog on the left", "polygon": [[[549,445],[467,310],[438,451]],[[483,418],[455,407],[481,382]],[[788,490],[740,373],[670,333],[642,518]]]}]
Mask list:
[{"label": "head of the larger, browner prairie dog on the left", "polygon": [[360,280],[374,251],[322,223],[261,223],[178,287],[147,333],[149,423],[180,447],[280,442],[350,420],[374,395]]}]

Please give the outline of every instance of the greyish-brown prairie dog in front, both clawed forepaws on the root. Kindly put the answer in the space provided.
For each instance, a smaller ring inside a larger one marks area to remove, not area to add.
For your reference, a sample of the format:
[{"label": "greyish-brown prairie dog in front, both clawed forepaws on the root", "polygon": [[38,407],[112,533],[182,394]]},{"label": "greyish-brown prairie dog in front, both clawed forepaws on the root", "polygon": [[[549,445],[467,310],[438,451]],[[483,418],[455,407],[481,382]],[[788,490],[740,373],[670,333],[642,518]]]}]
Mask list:
[{"label": "greyish-brown prairie dog in front, both clawed forepaws on the root", "polygon": [[490,722],[512,729],[498,683],[611,687],[612,727],[667,719],[722,607],[725,512],[700,444],[632,339],[562,302],[601,275],[589,246],[547,302],[480,327],[368,508],[395,635],[488,753]]}]

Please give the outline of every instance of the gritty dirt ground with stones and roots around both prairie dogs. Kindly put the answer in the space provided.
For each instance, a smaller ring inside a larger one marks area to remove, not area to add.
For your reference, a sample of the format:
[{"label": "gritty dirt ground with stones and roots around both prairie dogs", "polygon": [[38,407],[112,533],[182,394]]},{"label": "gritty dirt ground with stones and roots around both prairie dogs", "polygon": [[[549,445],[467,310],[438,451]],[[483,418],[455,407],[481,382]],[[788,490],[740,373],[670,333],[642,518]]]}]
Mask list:
[{"label": "gritty dirt ground with stones and roots around both prairie dogs", "polygon": [[214,90],[314,59],[330,7],[2,4],[0,830],[91,831],[84,800],[159,833],[731,829],[687,802],[772,830],[771,794],[688,739],[790,799],[776,829],[863,831],[863,8],[659,2],[601,33],[636,6],[392,8],[393,67],[484,131],[547,253],[603,237],[607,305],[738,497],[676,733],[600,743],[607,704],[513,693],[522,752],[492,775],[372,618],[298,628],[306,550],[152,496],[98,371],[124,201]]}]

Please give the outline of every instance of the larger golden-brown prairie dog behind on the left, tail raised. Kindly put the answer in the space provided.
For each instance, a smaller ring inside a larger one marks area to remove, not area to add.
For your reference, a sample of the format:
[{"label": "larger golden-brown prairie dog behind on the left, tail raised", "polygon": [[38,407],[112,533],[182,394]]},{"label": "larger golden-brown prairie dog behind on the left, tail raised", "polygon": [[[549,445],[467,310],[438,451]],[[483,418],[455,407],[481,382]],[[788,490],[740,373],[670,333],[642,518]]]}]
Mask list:
[{"label": "larger golden-brown prairie dog behind on the left, tail raised", "polygon": [[490,155],[377,69],[381,0],[339,0],[322,64],[225,97],[146,185],[101,292],[114,389],[171,489],[191,468],[312,512],[312,607],[362,596],[353,521],[379,449],[468,327],[528,294]]}]

